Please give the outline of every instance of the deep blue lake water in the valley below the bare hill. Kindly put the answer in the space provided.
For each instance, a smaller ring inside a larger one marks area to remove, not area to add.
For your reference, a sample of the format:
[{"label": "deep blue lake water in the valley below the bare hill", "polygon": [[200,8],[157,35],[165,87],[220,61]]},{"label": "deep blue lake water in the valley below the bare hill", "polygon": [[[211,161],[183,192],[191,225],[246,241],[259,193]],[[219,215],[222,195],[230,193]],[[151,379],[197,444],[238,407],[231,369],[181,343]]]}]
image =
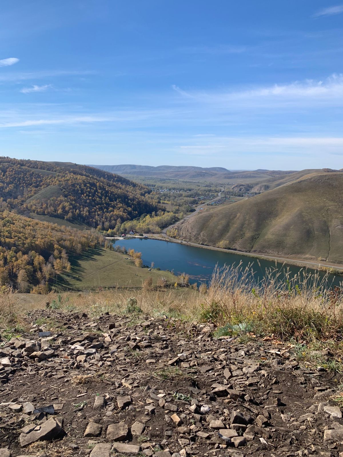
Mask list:
[{"label": "deep blue lake water in the valley below the bare hill", "polygon": [[[242,267],[245,268],[252,264],[252,270],[255,272],[256,279],[262,279],[266,271],[271,268],[275,270],[275,261],[257,259],[246,255],[232,254],[230,252],[222,252],[217,250],[203,249],[187,244],[178,244],[168,241],[161,241],[157,239],[120,239],[113,243],[115,246],[123,246],[127,250],[134,249],[142,253],[142,260],[144,265],[151,265],[155,263],[154,268],[161,268],[161,270],[173,270],[175,275],[181,273],[188,273],[190,282],[206,282],[212,277],[212,273],[216,265],[219,268],[235,265],[241,262]],[[259,265],[259,264],[260,265]],[[277,263],[277,269],[288,268],[291,275],[295,276],[300,270],[304,271],[305,268],[295,265],[286,265]],[[314,270],[307,268],[308,273],[314,273]],[[325,273],[319,271],[318,275],[323,277]],[[342,276],[329,275],[329,285],[340,285],[343,281]]]}]

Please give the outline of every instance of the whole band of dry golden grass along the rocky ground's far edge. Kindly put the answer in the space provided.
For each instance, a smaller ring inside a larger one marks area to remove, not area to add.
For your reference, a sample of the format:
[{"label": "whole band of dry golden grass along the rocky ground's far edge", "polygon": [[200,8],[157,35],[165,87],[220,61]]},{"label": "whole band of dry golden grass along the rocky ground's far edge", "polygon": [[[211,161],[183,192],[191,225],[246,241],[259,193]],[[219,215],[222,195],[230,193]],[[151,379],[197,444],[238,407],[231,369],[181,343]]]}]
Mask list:
[{"label": "whole band of dry golden grass along the rocky ground's far edge", "polygon": [[[262,279],[252,265],[216,268],[209,288],[165,288],[150,290],[112,289],[101,292],[50,293],[39,307],[83,311],[98,316],[110,314],[167,315],[184,320],[212,322],[222,332],[275,334],[284,340],[343,341],[343,289],[332,287],[329,276],[301,270],[292,275],[287,268],[270,269]],[[20,294],[0,295],[0,319],[13,321]],[[9,305],[11,304],[11,306]],[[30,307],[32,309],[32,304]]]}]

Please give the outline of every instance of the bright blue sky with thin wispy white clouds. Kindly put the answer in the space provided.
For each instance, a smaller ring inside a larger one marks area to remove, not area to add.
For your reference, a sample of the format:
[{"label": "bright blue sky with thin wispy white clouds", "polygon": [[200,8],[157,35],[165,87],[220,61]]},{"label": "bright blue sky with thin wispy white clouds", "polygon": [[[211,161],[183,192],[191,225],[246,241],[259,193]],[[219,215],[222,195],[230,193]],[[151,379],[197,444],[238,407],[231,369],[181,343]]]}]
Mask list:
[{"label": "bright blue sky with thin wispy white clouds", "polygon": [[343,168],[343,3],[3,2],[0,154]]}]

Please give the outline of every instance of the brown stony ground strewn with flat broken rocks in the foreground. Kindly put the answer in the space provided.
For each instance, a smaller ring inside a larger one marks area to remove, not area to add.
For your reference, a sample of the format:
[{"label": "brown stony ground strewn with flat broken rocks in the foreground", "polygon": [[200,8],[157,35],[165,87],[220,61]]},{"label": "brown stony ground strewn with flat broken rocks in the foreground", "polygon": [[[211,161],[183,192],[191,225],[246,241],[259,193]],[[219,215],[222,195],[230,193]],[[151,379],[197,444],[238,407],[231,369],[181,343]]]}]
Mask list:
[{"label": "brown stony ground strewn with flat broken rocks in the foreground", "polygon": [[343,456],[340,376],[278,341],[164,317],[28,319],[0,345],[0,457]]}]

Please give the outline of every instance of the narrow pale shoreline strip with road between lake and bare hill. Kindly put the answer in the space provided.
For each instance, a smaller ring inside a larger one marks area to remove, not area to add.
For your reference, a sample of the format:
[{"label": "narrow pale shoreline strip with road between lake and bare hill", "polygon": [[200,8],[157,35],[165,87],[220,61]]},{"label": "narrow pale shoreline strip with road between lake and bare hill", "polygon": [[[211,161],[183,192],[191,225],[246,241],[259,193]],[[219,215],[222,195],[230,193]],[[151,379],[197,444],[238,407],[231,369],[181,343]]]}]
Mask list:
[{"label": "narrow pale shoreline strip with road between lake and bare hill", "polygon": [[[147,239],[155,239],[159,241],[168,241],[170,243],[177,243],[177,244],[184,244],[185,246],[192,246],[196,248],[202,248],[202,249],[209,249],[209,250],[215,250],[215,251],[220,251],[220,252],[227,252],[229,254],[236,254],[236,255],[244,255],[246,257],[252,257],[253,259],[263,259],[263,260],[275,260],[278,263],[286,263],[289,265],[295,265],[295,266],[300,266],[300,267],[308,267],[311,268],[312,270],[327,270],[330,273],[330,270],[338,270],[336,273],[337,276],[343,276],[343,266],[340,265],[327,265],[325,263],[319,263],[319,262],[311,262],[310,260],[304,260],[304,259],[292,259],[289,257],[279,257],[277,255],[269,255],[269,254],[262,254],[262,253],[250,253],[250,252],[244,252],[244,251],[236,251],[233,249],[224,249],[224,248],[217,248],[215,246],[208,246],[207,244],[197,244],[197,243],[191,243],[188,241],[184,240],[178,240],[174,238],[168,237],[165,233],[162,232],[162,237],[158,236],[153,236],[153,234],[144,234],[144,236]],[[115,240],[120,240],[121,237],[106,237],[107,239],[115,239]],[[138,236],[132,235],[132,239],[134,238],[140,238]]]}]

